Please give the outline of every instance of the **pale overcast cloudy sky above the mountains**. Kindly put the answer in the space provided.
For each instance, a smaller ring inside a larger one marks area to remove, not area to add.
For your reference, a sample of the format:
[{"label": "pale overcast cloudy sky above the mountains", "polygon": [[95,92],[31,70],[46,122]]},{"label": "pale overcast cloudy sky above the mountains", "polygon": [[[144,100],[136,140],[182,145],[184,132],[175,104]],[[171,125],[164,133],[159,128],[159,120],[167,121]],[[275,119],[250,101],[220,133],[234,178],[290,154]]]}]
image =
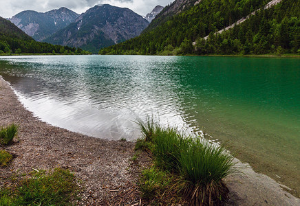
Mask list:
[{"label": "pale overcast cloudy sky above the mountains", "polygon": [[0,16],[9,18],[24,10],[47,12],[61,7],[81,14],[94,5],[108,3],[145,15],[156,7],[165,6],[174,0],[0,0]]}]

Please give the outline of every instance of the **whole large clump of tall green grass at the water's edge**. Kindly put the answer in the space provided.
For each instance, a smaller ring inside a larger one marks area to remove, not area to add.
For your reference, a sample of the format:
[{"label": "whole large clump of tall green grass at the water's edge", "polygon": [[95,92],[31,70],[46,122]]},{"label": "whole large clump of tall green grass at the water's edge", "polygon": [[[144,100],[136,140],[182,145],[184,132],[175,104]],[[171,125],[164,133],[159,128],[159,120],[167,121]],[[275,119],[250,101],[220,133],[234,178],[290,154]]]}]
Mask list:
[{"label": "whole large clump of tall green grass at the water's edge", "polygon": [[162,190],[160,174],[164,172],[167,176],[176,176],[173,186],[169,186],[177,188],[191,205],[222,204],[228,193],[222,179],[235,171],[234,157],[225,148],[202,137],[182,135],[177,128],[163,128],[153,117],[147,117],[146,122],[138,120],[137,124],[144,138],[138,139],[136,148],[150,150],[156,165],[156,169],[143,172],[142,181],[147,179],[140,186],[143,196]]}]

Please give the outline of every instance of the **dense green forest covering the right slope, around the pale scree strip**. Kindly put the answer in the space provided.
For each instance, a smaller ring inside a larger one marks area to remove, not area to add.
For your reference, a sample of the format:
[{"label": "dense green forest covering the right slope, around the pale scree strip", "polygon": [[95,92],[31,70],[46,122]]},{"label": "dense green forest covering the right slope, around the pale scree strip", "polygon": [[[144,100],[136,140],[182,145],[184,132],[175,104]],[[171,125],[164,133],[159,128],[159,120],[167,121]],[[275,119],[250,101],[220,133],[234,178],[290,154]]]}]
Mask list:
[{"label": "dense green forest covering the right slope, around the pale scree strip", "polygon": [[283,0],[231,30],[216,33],[266,3],[202,0],[167,21],[160,19],[162,24],[136,38],[101,49],[99,54],[299,54],[300,0]]}]

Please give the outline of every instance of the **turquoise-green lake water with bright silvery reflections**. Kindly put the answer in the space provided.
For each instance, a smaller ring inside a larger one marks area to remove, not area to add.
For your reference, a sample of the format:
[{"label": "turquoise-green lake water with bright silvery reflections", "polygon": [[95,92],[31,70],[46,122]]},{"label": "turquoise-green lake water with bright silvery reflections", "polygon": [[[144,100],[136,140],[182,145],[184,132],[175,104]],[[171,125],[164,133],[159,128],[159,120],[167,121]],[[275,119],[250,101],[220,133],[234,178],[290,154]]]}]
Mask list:
[{"label": "turquoise-green lake water with bright silvery reflections", "polygon": [[255,170],[300,189],[299,59],[5,57],[0,75],[50,124],[132,140],[136,117],[158,115],[226,142]]}]

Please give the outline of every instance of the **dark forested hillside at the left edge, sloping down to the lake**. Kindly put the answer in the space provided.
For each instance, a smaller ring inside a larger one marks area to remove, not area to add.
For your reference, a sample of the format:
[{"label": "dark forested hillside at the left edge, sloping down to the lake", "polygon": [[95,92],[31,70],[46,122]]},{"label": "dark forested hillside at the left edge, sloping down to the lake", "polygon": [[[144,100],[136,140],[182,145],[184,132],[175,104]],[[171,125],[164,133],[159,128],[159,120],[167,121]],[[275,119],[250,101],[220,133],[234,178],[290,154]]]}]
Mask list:
[{"label": "dark forested hillside at the left edge, sloping down to the lake", "polygon": [[8,54],[90,54],[83,49],[40,43],[16,25],[0,17],[0,55]]}]

